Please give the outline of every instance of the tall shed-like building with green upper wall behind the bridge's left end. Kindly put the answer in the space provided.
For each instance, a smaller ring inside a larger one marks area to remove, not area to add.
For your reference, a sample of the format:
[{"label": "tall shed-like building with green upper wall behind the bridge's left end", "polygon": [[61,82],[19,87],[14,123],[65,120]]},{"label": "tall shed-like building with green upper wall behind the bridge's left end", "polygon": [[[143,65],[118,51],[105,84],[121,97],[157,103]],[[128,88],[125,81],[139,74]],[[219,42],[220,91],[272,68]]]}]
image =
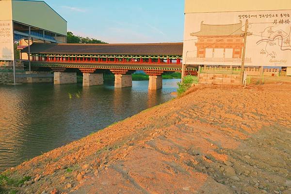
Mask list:
[{"label": "tall shed-like building with green upper wall behind the bridge's left end", "polygon": [[[0,60],[14,60],[14,43],[66,43],[67,22],[45,1],[0,0]],[[22,54],[23,60],[28,59]]]}]

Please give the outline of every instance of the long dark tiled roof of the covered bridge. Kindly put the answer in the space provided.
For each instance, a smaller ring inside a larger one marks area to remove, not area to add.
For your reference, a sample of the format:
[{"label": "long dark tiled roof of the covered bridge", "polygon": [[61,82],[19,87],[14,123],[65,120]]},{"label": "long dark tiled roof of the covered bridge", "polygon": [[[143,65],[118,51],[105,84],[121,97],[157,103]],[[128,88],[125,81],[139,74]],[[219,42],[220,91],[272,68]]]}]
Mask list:
[{"label": "long dark tiled roof of the covered bridge", "polygon": [[[28,52],[28,47],[22,52]],[[182,55],[183,43],[150,44],[45,44],[34,43],[31,53],[97,55]]]}]

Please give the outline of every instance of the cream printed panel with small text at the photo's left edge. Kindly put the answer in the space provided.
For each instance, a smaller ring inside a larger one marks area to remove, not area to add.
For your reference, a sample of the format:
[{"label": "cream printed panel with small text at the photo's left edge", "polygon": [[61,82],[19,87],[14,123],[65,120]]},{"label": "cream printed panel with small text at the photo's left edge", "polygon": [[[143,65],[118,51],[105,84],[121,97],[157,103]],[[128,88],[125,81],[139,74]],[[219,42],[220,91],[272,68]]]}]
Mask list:
[{"label": "cream printed panel with small text at the photo's left edge", "polygon": [[0,60],[14,60],[12,20],[0,21]]}]

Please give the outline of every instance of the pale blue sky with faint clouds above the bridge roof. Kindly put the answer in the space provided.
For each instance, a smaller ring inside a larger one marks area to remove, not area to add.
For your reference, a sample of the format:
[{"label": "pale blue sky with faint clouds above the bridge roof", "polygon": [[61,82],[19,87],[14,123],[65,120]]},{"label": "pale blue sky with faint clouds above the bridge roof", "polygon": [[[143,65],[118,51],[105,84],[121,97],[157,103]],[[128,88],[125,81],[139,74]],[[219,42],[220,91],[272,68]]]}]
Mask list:
[{"label": "pale blue sky with faint clouds above the bridge roof", "polygon": [[45,0],[68,31],[108,43],[183,40],[184,0]]}]

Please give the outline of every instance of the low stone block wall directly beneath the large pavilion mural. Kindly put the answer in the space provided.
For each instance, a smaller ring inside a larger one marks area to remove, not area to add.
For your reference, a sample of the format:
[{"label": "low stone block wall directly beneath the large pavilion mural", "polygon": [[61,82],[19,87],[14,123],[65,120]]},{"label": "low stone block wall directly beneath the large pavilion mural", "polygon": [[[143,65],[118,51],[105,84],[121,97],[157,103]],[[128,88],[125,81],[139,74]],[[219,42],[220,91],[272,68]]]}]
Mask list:
[{"label": "low stone block wall directly beneath the large pavilion mural", "polygon": [[241,76],[237,74],[199,74],[199,84],[240,85]]}]

